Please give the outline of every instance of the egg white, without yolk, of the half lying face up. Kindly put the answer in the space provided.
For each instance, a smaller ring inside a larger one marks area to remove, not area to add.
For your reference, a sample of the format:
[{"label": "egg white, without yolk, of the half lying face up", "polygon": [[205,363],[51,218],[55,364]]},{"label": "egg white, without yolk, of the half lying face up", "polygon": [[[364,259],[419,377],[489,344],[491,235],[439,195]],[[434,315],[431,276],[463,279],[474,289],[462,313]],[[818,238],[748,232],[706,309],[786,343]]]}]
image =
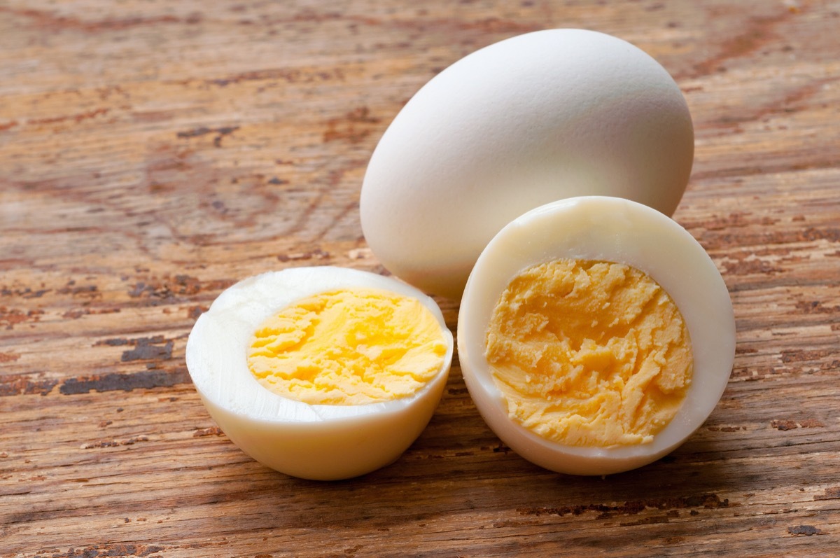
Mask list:
[{"label": "egg white, without yolk, of the half lying face up", "polygon": [[[251,335],[295,301],[334,289],[375,288],[420,300],[447,341],[444,366],[411,397],[366,405],[311,405],[270,392],[248,369]],[[454,343],[437,303],[403,282],[321,266],[273,271],[236,283],[199,316],[186,366],[213,420],[246,454],[291,476],[338,480],[375,471],[402,455],[443,394]]]}]

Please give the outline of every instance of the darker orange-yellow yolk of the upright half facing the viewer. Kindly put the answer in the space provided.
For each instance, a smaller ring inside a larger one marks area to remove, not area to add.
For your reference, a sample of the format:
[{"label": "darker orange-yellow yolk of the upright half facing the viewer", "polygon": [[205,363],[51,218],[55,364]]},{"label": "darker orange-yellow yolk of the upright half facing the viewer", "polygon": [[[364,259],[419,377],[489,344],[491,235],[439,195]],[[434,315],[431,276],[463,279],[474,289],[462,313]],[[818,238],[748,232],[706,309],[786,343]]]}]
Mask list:
[{"label": "darker orange-yellow yolk of the upright half facing the viewer", "polygon": [[517,275],[493,312],[486,358],[512,420],[575,446],[652,441],[693,370],[668,293],[607,261],[561,259]]}]

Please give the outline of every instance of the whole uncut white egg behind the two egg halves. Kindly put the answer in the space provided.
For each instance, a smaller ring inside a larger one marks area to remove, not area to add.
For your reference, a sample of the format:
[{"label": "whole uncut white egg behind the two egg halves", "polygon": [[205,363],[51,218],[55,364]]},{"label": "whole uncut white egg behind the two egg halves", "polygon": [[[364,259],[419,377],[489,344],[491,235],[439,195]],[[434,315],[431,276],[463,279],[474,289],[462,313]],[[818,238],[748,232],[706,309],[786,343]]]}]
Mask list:
[{"label": "whole uncut white egg behind the two egg halves", "polygon": [[458,298],[522,213],[603,195],[671,215],[693,158],[685,98],[643,50],[584,29],[522,34],[455,62],[396,115],[365,172],[361,226],[394,275]]}]

